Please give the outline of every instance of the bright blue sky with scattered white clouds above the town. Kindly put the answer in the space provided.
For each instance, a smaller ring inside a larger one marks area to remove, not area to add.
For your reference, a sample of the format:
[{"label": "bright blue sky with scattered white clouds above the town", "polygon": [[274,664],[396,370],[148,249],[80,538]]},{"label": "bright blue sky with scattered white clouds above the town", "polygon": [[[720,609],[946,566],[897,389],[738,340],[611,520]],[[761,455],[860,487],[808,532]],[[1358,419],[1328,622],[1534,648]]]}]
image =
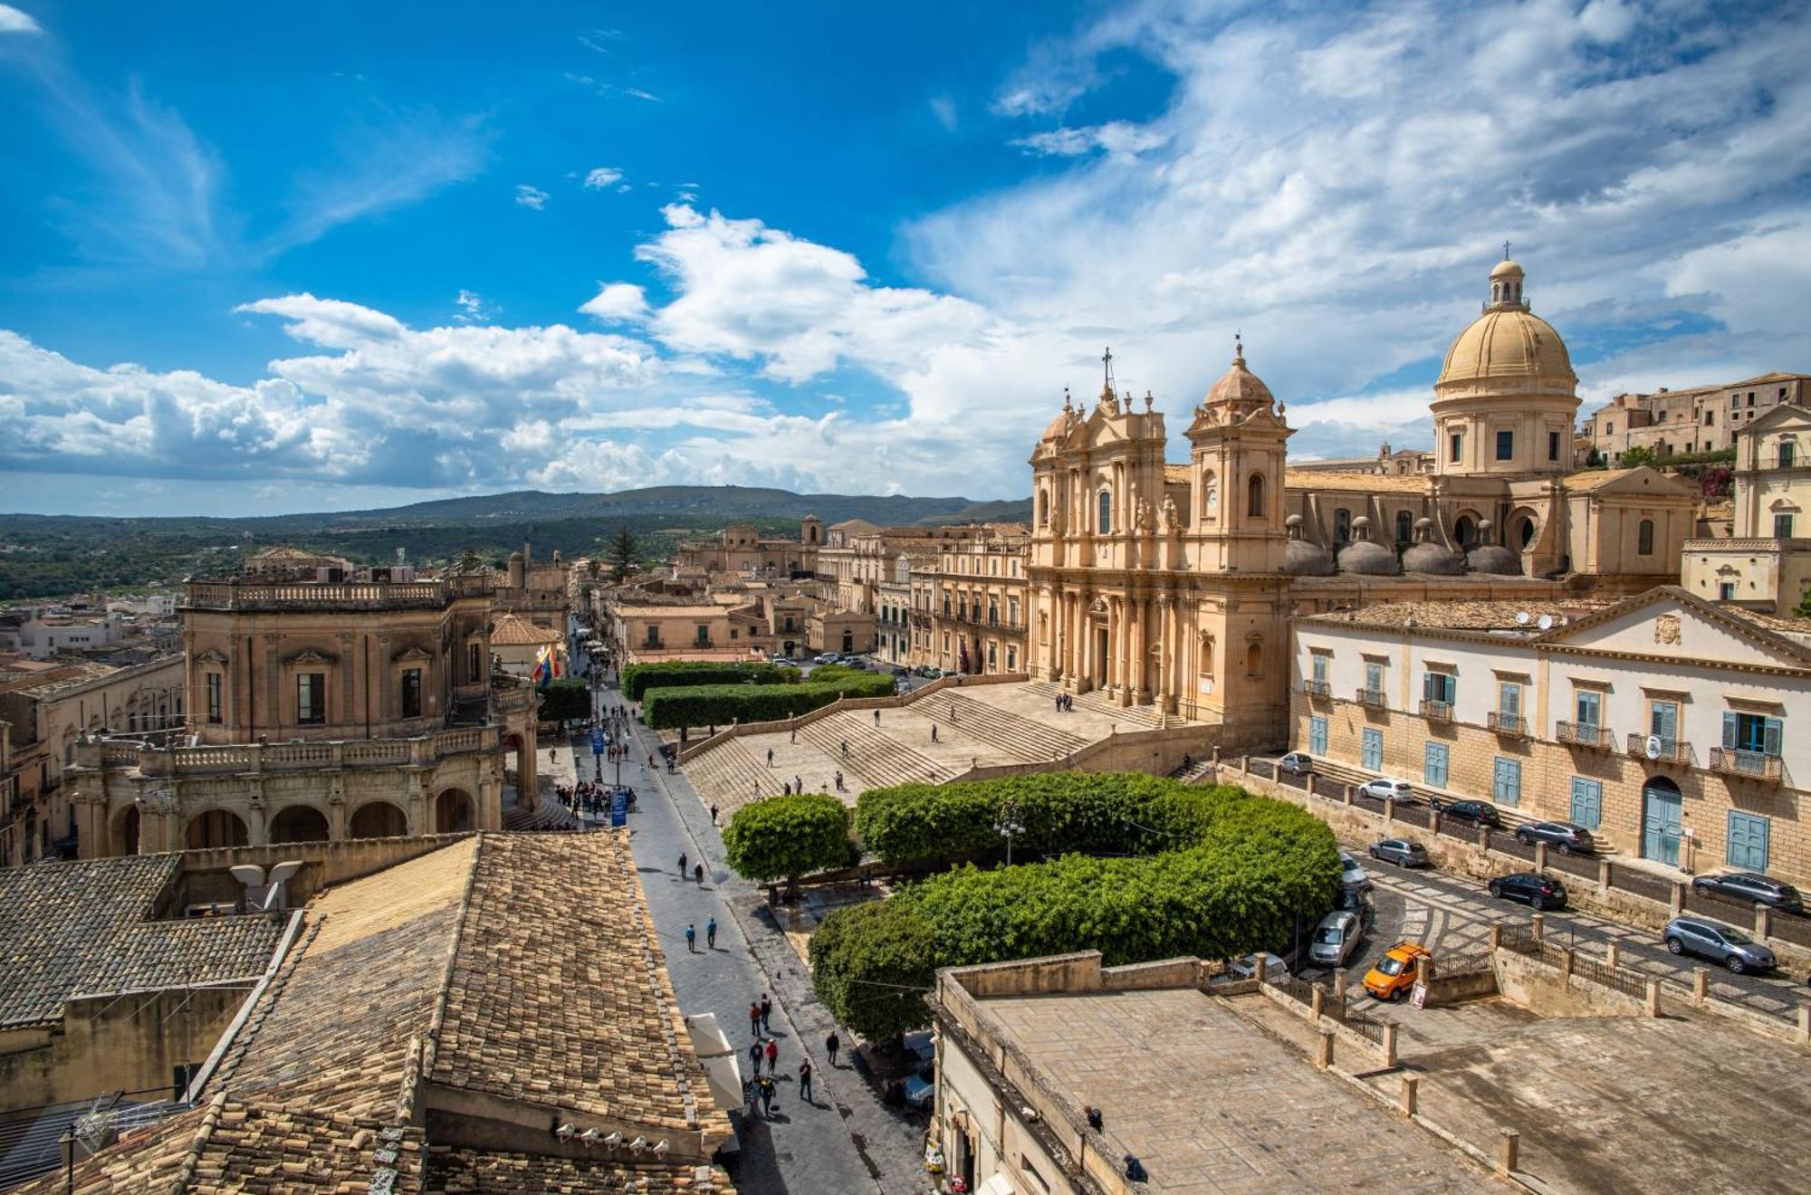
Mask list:
[{"label": "bright blue sky with scattered white clouds above the town", "polygon": [[1811,5],[0,4],[0,511],[1029,492],[1425,445],[1503,241],[1619,391],[1811,371]]}]

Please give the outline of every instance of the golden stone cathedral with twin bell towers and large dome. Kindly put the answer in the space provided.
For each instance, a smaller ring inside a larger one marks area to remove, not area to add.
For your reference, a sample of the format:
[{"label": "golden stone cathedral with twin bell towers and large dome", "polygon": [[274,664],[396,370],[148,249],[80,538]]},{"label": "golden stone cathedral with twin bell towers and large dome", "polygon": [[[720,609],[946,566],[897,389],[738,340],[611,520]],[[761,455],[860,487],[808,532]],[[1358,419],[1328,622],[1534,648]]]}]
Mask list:
[{"label": "golden stone cathedral with twin bell towers and large dome", "polygon": [[1434,471],[1288,467],[1284,404],[1231,368],[1166,464],[1164,418],[1065,398],[1032,451],[1034,679],[1280,742],[1289,619],[1382,601],[1621,598],[1679,576],[1697,492],[1646,465],[1572,469],[1577,377],[1514,261],[1434,382]]}]

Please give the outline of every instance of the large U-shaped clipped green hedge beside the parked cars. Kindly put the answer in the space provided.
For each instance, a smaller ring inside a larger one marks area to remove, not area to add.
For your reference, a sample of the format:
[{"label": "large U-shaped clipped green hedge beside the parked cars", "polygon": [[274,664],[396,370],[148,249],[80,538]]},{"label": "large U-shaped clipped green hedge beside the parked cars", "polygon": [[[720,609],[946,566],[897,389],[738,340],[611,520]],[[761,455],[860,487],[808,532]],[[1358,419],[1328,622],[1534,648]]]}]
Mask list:
[{"label": "large U-shaped clipped green hedge beside the parked cars", "polygon": [[983,855],[998,846],[994,820],[1007,800],[1025,826],[1016,846],[1036,838],[1043,846],[1032,849],[1067,853],[991,871],[967,864],[880,905],[831,913],[811,938],[811,970],[838,1021],[869,1039],[925,1025],[922,999],[880,992],[929,989],[938,967],[1090,949],[1110,967],[1273,949],[1338,894],[1333,831],[1306,809],[1231,786],[1137,773],[902,786],[864,793],[857,824],[900,862]]}]

